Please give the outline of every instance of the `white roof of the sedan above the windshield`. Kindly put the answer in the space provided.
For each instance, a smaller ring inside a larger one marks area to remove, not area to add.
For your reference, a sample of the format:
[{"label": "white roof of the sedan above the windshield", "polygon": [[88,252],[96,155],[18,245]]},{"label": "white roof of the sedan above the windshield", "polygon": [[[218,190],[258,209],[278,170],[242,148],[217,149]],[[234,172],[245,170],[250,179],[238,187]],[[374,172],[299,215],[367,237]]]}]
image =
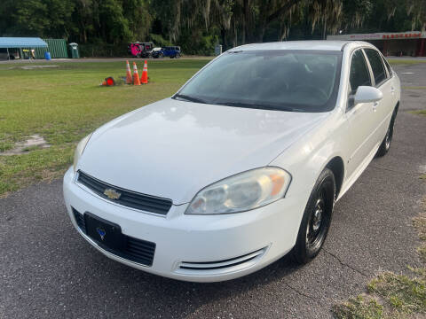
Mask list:
[{"label": "white roof of the sedan above the windshield", "polygon": [[254,50],[322,50],[322,51],[341,51],[343,47],[351,43],[353,45],[372,46],[370,43],[362,41],[284,41],[275,43],[253,43],[245,44],[233,48],[230,51],[254,51]]}]

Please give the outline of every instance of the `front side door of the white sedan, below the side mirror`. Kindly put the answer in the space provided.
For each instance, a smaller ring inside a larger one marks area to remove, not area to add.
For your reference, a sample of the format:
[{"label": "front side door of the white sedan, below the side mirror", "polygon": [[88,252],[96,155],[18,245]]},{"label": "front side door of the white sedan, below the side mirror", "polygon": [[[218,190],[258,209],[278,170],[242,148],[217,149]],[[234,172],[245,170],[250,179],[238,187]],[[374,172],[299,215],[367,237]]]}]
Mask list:
[{"label": "front side door of the white sedan, below the side mirror", "polygon": [[359,86],[373,84],[367,60],[362,49],[353,51],[350,66],[350,96],[346,108],[348,121],[346,174],[351,177],[357,168],[367,159],[375,147],[376,141],[373,132],[376,127],[375,107],[373,103],[353,105],[353,96]]}]

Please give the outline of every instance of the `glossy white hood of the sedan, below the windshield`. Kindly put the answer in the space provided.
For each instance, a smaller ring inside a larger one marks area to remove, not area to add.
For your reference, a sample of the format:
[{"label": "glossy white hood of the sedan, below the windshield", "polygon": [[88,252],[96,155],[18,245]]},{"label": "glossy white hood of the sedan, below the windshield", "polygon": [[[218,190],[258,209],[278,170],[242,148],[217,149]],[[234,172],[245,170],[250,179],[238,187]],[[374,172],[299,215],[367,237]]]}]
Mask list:
[{"label": "glossy white hood of the sedan, below the windshield", "polygon": [[327,114],[167,98],[96,130],[77,169],[180,205],[210,183],[267,166]]}]

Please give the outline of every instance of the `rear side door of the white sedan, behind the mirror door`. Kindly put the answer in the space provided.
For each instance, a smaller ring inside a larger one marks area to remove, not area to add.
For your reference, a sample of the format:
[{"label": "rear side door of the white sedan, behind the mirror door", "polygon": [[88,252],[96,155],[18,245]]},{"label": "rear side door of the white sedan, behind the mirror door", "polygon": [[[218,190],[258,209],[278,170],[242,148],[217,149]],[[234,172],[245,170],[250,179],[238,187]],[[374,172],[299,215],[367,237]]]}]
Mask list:
[{"label": "rear side door of the white sedan, behind the mirror door", "polygon": [[378,144],[382,143],[389,127],[390,116],[395,106],[394,97],[396,88],[386,71],[380,53],[374,49],[364,49],[364,51],[373,72],[375,88],[380,89],[383,93],[383,99],[374,104],[376,121],[375,141]]}]

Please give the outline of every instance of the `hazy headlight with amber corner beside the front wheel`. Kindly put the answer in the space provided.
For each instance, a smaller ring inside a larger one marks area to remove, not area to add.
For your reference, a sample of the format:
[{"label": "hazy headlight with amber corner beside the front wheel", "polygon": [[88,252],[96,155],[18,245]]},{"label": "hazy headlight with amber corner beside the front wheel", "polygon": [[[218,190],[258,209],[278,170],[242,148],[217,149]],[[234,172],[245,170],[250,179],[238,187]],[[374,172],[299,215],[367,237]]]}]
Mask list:
[{"label": "hazy headlight with amber corner beside the front wheel", "polygon": [[265,206],[283,198],[291,175],[263,167],[227,177],[198,192],[185,214],[231,214]]}]

